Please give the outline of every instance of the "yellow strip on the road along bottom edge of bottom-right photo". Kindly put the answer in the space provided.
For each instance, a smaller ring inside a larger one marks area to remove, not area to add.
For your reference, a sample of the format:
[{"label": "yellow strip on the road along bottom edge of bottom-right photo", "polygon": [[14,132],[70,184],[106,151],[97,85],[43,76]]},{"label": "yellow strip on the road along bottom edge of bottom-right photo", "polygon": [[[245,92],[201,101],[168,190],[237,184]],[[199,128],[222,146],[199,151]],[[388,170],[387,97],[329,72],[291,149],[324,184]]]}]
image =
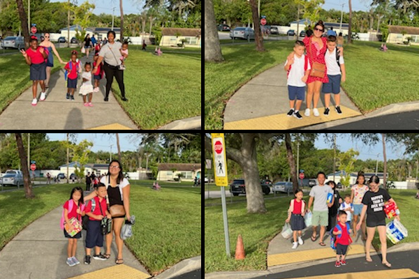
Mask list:
[{"label": "yellow strip on the road along bottom edge of bottom-right photo", "polygon": [[[304,277],[304,279],[402,279],[402,278],[419,278],[419,274],[411,269],[391,269],[386,271],[366,271],[353,272],[345,274],[331,274],[323,276]],[[302,278],[293,278],[302,279]]]}]

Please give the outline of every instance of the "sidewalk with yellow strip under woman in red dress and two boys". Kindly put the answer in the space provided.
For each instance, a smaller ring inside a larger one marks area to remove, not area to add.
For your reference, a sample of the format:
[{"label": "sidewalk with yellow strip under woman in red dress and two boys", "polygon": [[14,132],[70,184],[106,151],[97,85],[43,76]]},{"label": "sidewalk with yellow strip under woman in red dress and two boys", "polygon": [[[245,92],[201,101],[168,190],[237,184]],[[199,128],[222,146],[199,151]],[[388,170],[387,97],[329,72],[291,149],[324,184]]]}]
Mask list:
[{"label": "sidewalk with yellow strip under woman in red dress and two boys", "polygon": [[303,118],[288,117],[286,113],[290,108],[286,72],[284,65],[280,64],[254,77],[230,98],[224,111],[224,129],[288,130],[362,115],[342,89],[340,95],[343,112],[340,115],[333,109],[335,101],[332,97],[330,114],[323,116],[324,94],[321,93],[317,107],[320,116],[313,116],[313,110],[309,117],[304,116],[304,110],[307,108],[306,94],[300,109]]}]

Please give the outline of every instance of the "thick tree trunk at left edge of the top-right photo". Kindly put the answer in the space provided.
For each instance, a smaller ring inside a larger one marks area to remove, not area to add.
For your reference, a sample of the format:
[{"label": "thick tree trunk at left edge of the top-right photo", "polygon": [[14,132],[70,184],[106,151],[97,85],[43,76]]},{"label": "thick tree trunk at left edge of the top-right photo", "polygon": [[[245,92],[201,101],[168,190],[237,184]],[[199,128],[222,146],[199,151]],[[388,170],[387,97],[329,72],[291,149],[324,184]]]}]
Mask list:
[{"label": "thick tree trunk at left edge of the top-right photo", "polygon": [[224,61],[223,54],[221,54],[218,31],[216,31],[212,0],[205,0],[205,61]]}]

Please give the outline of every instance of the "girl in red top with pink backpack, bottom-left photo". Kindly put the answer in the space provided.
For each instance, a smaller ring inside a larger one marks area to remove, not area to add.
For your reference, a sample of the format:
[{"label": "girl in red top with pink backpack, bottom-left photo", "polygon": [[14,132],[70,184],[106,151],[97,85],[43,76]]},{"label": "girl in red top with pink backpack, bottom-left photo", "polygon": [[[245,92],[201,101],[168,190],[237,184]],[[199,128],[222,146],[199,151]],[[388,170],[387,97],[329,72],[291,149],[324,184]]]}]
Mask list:
[{"label": "girl in red top with pink backpack, bottom-left photo", "polygon": [[70,199],[63,206],[63,214],[61,216],[61,229],[64,229],[64,236],[68,239],[67,247],[67,264],[68,266],[75,266],[80,264],[75,257],[75,250],[77,250],[77,240],[82,237],[82,232],[78,232],[74,236],[68,233],[73,231],[75,227],[71,223],[71,218],[77,219],[80,224],[82,223],[82,216],[84,216],[84,200],[83,190],[80,187],[75,187],[71,190]]}]

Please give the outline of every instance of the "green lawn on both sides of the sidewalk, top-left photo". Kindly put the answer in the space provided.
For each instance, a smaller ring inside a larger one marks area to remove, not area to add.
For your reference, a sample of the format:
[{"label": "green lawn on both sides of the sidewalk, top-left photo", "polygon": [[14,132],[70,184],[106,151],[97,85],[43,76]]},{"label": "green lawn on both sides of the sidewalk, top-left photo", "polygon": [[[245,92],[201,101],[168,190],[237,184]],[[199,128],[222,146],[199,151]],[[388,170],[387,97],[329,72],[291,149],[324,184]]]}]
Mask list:
[{"label": "green lawn on both sides of the sidewalk, top-left photo", "polygon": [[[69,61],[71,50],[74,49],[57,50],[63,61]],[[163,50],[163,56],[140,50],[130,51],[124,72],[128,102],[120,100],[116,80],[112,84],[119,103],[142,129],[159,128],[171,121],[201,114],[200,50],[175,51],[179,53],[165,53]],[[79,53],[79,57],[82,55]],[[52,73],[61,68],[64,68],[64,64],[59,64],[54,56]],[[22,54],[0,56],[0,80],[1,112],[32,84],[29,66]]]}]

